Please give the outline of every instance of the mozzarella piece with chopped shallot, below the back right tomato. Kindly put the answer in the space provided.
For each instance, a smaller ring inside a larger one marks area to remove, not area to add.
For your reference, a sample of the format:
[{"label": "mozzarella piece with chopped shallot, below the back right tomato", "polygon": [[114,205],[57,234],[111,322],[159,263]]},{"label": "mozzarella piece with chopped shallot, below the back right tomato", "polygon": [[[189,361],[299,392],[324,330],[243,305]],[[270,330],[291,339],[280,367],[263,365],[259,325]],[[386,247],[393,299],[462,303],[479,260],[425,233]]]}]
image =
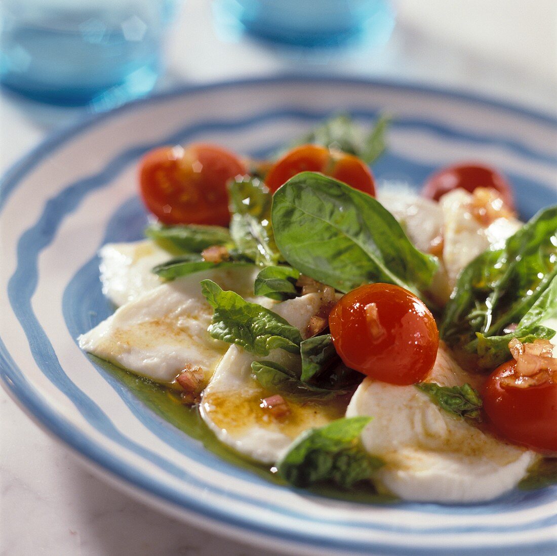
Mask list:
[{"label": "mozzarella piece with chopped shallot, below the back right tomato", "polygon": [[449,287],[455,286],[461,270],[487,248],[502,246],[521,223],[515,218],[497,218],[483,226],[472,213],[472,195],[455,189],[443,195],[439,204],[443,210],[443,263]]}]

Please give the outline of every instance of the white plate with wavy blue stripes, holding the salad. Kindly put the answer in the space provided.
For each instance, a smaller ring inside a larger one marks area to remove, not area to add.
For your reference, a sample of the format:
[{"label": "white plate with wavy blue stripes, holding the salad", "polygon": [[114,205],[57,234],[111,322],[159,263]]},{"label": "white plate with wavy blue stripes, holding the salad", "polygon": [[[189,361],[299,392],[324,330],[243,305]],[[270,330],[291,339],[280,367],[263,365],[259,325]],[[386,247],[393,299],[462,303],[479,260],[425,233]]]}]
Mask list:
[{"label": "white plate with wavy blue stripes, holding the salad", "polygon": [[0,366],[46,429],[150,503],[213,530],[297,554],[557,553],[557,487],[485,504],[385,505],[321,498],[219,459],[169,425],[77,336],[113,310],[99,247],[140,239],[136,165],[160,145],[211,141],[265,156],[326,116],[394,116],[377,180],[416,188],[439,166],[480,160],[514,185],[522,218],[557,202],[557,121],[499,102],[389,82],[276,78],[188,87],[51,137],[0,190]]}]

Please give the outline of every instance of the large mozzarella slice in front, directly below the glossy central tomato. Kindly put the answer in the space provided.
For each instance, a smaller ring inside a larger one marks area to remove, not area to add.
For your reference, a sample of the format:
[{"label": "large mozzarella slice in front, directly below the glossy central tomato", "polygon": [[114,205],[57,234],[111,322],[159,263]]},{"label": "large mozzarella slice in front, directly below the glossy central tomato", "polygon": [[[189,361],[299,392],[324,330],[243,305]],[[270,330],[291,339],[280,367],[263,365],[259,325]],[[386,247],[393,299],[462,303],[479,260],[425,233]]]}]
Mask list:
[{"label": "large mozzarella slice in front, directly below the glossy central tomato", "polygon": [[[428,382],[477,386],[441,345]],[[346,416],[370,415],[361,440],[385,466],[377,479],[404,500],[467,503],[491,500],[514,488],[535,452],[506,444],[452,417],[415,386],[365,378]]]}]

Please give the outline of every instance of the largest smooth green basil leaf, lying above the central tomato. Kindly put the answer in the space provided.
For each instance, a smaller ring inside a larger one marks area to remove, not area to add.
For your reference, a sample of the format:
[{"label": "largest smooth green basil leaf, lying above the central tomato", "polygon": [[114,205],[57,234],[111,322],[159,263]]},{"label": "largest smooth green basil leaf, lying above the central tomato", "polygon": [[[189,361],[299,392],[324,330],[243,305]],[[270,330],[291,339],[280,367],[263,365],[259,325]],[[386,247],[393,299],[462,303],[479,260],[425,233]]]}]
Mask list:
[{"label": "largest smooth green basil leaf, lying above the central tomato", "polygon": [[418,293],[438,266],[377,200],[322,174],[302,172],[278,189],[272,224],[292,267],[344,293],[370,282]]}]

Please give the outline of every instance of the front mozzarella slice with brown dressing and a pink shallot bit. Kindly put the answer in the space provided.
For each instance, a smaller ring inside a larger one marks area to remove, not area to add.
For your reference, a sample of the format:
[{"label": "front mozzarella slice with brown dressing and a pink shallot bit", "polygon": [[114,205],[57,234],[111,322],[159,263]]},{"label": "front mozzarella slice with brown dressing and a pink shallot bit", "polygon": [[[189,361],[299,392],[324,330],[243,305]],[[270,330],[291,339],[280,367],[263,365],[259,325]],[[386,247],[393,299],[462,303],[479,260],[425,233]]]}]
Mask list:
[{"label": "front mozzarella slice with brown dressing and a pink shallot bit", "polygon": [[[319,293],[278,303],[273,311],[304,334],[310,318],[321,305]],[[290,398],[290,413],[275,419],[261,402],[276,392],[265,391],[252,376],[253,361],[274,361],[300,369],[300,356],[273,350],[267,357],[255,356],[238,346],[228,348],[213,378],[203,392],[201,415],[218,439],[256,461],[274,463],[302,431],[326,425],[343,416],[346,405],[328,400],[325,404]]]}]

